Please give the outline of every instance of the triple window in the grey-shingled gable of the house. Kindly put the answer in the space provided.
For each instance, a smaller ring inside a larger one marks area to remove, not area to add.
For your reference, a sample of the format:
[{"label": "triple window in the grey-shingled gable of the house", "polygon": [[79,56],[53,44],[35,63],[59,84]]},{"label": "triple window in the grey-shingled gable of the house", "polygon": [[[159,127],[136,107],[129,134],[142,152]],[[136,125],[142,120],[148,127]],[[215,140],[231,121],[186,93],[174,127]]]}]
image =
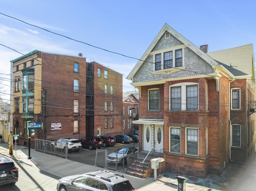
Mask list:
[{"label": "triple window in the grey-shingled gable of the house", "polygon": [[154,71],[182,67],[184,64],[184,48],[158,51],[153,55]]}]

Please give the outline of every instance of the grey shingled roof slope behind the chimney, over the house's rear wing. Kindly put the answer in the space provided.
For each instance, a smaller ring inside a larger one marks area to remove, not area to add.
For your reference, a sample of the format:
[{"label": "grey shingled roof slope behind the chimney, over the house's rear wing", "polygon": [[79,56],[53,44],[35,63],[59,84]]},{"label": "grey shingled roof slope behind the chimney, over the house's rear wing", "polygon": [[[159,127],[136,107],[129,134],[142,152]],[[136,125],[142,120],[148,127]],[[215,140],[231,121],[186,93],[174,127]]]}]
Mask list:
[{"label": "grey shingled roof slope behind the chimney, over the house's rear wing", "polygon": [[235,77],[252,75],[254,79],[254,56],[252,44],[235,47],[231,49],[207,53],[223,65]]}]

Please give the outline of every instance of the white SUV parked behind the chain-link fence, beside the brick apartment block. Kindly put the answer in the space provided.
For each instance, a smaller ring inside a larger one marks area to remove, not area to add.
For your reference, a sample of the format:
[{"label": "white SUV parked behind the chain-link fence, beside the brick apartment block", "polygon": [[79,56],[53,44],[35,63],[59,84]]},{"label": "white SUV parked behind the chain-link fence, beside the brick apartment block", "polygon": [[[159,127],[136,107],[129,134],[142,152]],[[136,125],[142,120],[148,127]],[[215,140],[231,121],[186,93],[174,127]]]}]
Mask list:
[{"label": "white SUV parked behind the chain-link fence, beside the brick apartment block", "polygon": [[66,143],[68,143],[68,151],[75,151],[78,152],[82,148],[82,144],[80,140],[74,139],[74,138],[66,138],[66,139],[58,139],[55,142],[51,143],[51,150],[54,150],[54,147],[56,149],[62,149],[64,152],[66,152]]}]

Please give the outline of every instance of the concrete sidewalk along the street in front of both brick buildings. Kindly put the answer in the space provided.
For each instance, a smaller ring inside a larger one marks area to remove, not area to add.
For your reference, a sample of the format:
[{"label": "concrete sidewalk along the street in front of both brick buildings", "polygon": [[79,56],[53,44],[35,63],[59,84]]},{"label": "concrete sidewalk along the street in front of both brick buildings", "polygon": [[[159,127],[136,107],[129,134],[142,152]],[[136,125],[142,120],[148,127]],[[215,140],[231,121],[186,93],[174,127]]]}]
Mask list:
[{"label": "concrete sidewalk along the street in front of both brick buildings", "polygon": [[[31,159],[28,159],[28,148],[14,145],[13,155],[9,155],[8,144],[0,143],[0,153],[17,160],[20,163],[34,166],[42,171],[65,177],[68,175],[82,174],[90,171],[101,170],[102,168],[72,161],[70,159],[59,158],[50,154],[37,152],[30,149]],[[112,170],[109,170],[112,171]],[[112,171],[115,172],[115,171]],[[125,170],[120,171],[136,187],[136,191],[168,190],[177,191],[178,174],[164,172],[146,179],[141,179],[131,175],[126,175]],[[208,175],[205,179],[182,175],[188,178],[186,181],[186,191],[256,191],[256,155],[247,165],[231,163],[220,175]]]}]

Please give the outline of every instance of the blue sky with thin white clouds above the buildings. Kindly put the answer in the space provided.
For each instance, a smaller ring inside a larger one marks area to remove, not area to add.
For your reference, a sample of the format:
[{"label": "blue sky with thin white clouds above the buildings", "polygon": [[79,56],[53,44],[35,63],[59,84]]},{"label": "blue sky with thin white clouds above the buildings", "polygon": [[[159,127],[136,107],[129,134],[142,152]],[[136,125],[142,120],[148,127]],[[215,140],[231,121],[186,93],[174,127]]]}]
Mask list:
[{"label": "blue sky with thin white clouds above the buildings", "polygon": [[208,44],[208,52],[250,43],[255,47],[255,7],[254,0],[0,0],[1,98],[10,98],[10,60],[21,56],[12,49],[82,53],[87,61],[124,74],[123,90],[132,91],[126,77],[138,60],[128,57],[140,59],[164,23],[197,47]]}]

